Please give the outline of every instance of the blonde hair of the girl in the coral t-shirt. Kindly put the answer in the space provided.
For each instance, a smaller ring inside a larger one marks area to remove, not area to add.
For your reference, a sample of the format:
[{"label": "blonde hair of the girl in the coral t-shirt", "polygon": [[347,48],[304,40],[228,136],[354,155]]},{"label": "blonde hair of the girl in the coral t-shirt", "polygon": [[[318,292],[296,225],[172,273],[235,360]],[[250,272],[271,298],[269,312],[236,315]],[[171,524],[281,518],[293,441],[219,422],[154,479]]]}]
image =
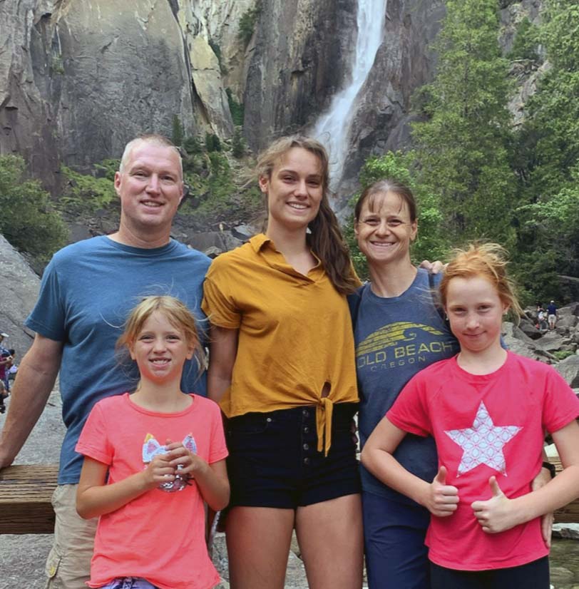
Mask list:
[{"label": "blonde hair of the girl in the coral t-shirt", "polygon": [[144,297],[133,308],[125,321],[123,334],[118,338],[117,349],[130,349],[143,329],[145,321],[155,312],[162,313],[170,324],[185,335],[185,342],[193,348],[200,368],[205,368],[205,350],[199,340],[197,323],[193,313],[175,297],[168,294]]}]

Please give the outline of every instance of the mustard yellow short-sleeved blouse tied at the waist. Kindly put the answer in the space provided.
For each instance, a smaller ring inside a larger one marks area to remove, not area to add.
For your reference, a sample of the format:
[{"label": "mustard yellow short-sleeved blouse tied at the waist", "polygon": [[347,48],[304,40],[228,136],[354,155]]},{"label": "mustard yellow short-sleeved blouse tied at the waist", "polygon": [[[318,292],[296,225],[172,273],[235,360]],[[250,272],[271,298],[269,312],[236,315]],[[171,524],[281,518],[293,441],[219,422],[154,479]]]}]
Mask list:
[{"label": "mustard yellow short-sleeved blouse tied at the waist", "polygon": [[316,405],[318,451],[327,454],[334,403],[357,402],[358,392],[348,304],[322,263],[302,275],[256,235],[213,260],[202,308],[212,324],[239,329],[225,415]]}]

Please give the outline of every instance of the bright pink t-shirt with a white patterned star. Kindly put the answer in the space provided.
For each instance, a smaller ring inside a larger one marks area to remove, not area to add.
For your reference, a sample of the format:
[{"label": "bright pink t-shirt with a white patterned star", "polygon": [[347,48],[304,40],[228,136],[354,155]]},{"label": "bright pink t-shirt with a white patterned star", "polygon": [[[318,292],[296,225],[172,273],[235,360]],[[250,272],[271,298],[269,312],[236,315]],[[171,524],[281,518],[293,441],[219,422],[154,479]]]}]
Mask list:
[{"label": "bright pink t-shirt with a white patterned star", "polygon": [[434,436],[446,484],[458,488],[452,516],[431,516],[426,545],[437,565],[486,570],[530,563],[548,554],[540,518],[487,534],[471,508],[491,498],[496,476],[509,498],[531,491],[540,471],[544,431],[557,431],[579,415],[579,399],[547,364],[508,352],[496,372],[474,375],[456,357],[432,364],[409,381],[388,419],[400,429]]}]

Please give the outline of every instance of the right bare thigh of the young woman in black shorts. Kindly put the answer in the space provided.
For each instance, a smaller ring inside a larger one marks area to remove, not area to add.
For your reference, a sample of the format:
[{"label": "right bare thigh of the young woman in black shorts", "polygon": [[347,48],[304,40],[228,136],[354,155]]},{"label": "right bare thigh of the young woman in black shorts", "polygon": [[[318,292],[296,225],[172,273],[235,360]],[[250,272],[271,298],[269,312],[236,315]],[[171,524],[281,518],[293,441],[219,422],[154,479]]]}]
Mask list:
[{"label": "right bare thigh of the young woman in black shorts", "polygon": [[299,507],[296,534],[309,589],[362,588],[364,536],[359,495]]}]

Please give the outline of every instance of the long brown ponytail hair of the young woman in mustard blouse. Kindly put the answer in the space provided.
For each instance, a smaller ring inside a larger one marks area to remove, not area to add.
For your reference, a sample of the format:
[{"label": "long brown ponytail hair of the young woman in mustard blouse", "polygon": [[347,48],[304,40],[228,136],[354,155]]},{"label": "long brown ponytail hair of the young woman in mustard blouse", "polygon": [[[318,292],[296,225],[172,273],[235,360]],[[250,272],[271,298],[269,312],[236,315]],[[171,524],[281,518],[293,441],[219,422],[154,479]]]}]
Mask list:
[{"label": "long brown ponytail hair of the young woman in mustard blouse", "polygon": [[313,153],[319,160],[322,174],[322,201],[318,214],[309,223],[309,247],[322,261],[334,288],[341,294],[351,294],[359,287],[360,282],[350,262],[337,217],[329,206],[329,160],[322,143],[302,135],[277,139],[258,156],[255,175],[257,178],[271,178],[275,164],[292,148],[302,148]]}]

